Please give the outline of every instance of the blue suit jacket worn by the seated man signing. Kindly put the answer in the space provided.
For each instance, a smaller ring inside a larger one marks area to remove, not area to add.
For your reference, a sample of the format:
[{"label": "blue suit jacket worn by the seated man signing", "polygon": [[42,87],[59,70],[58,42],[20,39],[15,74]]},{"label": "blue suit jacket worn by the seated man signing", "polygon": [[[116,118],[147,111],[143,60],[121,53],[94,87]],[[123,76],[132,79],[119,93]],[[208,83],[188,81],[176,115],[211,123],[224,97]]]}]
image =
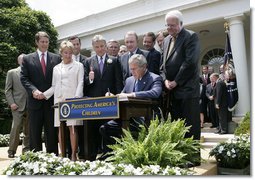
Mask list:
[{"label": "blue suit jacket worn by the seated man signing", "polygon": [[[147,71],[141,79],[141,91],[135,92],[136,97],[157,99],[162,92],[162,78],[154,73]],[[126,79],[123,93],[134,92],[135,78],[133,76]]]}]

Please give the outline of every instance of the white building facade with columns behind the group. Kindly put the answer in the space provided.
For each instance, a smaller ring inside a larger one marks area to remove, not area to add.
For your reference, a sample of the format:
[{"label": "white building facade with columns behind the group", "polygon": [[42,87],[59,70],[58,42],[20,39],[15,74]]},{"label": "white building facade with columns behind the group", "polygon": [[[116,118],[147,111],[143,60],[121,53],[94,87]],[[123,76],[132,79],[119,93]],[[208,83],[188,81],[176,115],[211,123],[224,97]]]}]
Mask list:
[{"label": "white building facade with columns behind the group", "polygon": [[92,49],[91,39],[96,34],[107,40],[119,40],[134,30],[142,44],[148,31],[165,29],[165,15],[170,10],[183,13],[183,24],[199,35],[200,65],[209,64],[218,72],[223,63],[226,34],[224,23],[229,24],[229,36],[235,63],[239,101],[235,116],[243,116],[251,107],[251,34],[249,0],[137,0],[98,14],[56,27],[59,42],[69,36],[81,38],[85,53]]}]

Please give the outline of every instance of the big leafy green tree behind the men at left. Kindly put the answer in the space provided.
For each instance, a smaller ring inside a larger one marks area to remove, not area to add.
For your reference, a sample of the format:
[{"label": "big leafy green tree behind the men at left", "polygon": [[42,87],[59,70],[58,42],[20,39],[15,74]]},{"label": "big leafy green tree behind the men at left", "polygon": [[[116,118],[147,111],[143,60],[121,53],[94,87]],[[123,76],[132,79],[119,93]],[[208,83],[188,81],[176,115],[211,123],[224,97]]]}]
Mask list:
[{"label": "big leafy green tree behind the men at left", "polygon": [[49,34],[52,52],[57,47],[58,33],[46,13],[32,10],[24,0],[0,0],[0,7],[0,114],[1,118],[8,119],[11,114],[3,90],[6,72],[17,67],[19,54],[35,51],[38,31]]}]

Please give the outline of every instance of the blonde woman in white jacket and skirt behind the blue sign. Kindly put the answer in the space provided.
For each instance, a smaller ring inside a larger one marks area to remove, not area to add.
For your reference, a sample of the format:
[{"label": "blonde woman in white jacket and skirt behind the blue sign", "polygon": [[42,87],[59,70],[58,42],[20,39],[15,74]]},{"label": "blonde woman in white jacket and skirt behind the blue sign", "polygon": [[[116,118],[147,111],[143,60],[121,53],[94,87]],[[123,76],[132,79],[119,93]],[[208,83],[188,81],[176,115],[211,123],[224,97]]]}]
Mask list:
[{"label": "blonde woman in white jacket and skirt behind the blue sign", "polygon": [[[60,44],[59,52],[62,62],[53,69],[52,86],[43,93],[46,99],[54,94],[54,104],[64,101],[67,98],[83,97],[83,64],[72,60],[73,44],[69,41],[63,41]],[[69,127],[70,141],[72,148],[71,160],[77,160],[78,135],[75,126],[83,125],[81,120],[68,120],[66,122]],[[55,109],[54,126],[60,127],[59,109]],[[60,130],[58,133],[59,144],[61,144]],[[60,146],[60,148],[62,148]]]}]

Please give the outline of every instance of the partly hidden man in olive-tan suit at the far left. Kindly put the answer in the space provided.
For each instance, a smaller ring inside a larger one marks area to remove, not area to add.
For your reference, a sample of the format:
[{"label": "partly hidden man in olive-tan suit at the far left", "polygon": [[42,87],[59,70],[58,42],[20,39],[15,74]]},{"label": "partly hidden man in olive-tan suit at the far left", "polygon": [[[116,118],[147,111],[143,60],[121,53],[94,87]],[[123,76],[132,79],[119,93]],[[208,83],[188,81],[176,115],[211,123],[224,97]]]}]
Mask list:
[{"label": "partly hidden man in olive-tan suit at the far left", "polygon": [[[24,54],[19,55],[18,64],[21,65]],[[20,66],[7,72],[5,83],[6,100],[12,111],[12,128],[10,132],[10,142],[8,157],[14,158],[19,145],[20,128],[23,128],[22,154],[29,150],[29,125],[27,118],[27,92],[20,82]]]}]

